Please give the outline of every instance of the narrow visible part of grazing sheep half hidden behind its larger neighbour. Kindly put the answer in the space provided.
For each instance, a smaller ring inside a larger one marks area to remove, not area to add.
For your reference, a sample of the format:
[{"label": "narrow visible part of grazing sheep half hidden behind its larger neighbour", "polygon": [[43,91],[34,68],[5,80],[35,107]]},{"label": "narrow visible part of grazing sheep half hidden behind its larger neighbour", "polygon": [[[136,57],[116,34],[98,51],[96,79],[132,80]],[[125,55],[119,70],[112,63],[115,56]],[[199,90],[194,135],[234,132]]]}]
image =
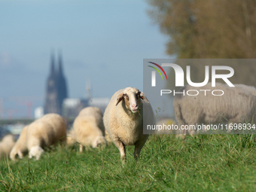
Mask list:
[{"label": "narrow visible part of grazing sheep half hidden behind its larger neighbour", "polygon": [[20,133],[20,137],[15,143],[14,147],[11,149],[10,159],[15,160],[15,156],[18,155],[20,159],[23,158],[23,153],[28,151],[26,147],[26,132],[29,126],[25,126]]}]

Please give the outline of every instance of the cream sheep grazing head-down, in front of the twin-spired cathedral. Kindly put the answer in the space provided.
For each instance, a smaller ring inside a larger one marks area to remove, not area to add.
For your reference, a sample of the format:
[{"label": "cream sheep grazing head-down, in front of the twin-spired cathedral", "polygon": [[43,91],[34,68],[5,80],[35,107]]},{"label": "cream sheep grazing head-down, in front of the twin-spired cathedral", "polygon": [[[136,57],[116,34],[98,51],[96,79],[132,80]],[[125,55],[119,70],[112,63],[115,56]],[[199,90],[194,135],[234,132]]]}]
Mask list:
[{"label": "cream sheep grazing head-down, in front of the twin-spired cathedral", "polygon": [[43,148],[66,142],[66,124],[59,114],[45,114],[32,122],[26,134],[26,146],[29,158],[39,160],[44,152]]}]

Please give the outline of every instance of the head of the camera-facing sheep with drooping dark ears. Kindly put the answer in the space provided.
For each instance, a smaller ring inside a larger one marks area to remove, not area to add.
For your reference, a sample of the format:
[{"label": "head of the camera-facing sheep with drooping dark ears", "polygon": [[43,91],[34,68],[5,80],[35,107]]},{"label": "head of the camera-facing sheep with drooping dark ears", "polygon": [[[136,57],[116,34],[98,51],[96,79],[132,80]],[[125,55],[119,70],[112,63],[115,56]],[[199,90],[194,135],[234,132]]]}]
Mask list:
[{"label": "head of the camera-facing sheep with drooping dark ears", "polygon": [[127,87],[122,93],[117,96],[117,104],[124,100],[126,108],[133,113],[137,113],[142,105],[142,100],[149,102],[145,94],[136,88]]}]

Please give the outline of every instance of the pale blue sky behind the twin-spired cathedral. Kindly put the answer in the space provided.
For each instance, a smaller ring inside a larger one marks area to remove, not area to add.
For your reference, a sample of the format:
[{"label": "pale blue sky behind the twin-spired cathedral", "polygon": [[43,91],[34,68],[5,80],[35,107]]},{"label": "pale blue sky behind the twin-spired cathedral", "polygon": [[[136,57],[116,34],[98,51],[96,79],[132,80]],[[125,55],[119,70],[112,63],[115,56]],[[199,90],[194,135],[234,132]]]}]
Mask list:
[{"label": "pale blue sky behind the twin-spired cathedral", "polygon": [[62,53],[70,98],[143,90],[143,59],[165,59],[146,1],[0,0],[0,116],[26,117],[44,105],[50,55]]}]

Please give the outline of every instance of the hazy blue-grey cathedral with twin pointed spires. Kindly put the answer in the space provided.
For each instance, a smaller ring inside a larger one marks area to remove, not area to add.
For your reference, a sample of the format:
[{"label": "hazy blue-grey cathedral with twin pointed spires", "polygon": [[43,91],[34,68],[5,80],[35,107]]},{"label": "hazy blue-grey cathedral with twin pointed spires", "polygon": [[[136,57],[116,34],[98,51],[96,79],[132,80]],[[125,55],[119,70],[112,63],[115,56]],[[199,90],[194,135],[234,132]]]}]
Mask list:
[{"label": "hazy blue-grey cathedral with twin pointed spires", "polygon": [[59,65],[55,69],[55,59],[50,59],[50,75],[47,78],[44,114],[62,114],[62,102],[68,97],[66,78],[62,70],[62,56],[59,55]]}]

